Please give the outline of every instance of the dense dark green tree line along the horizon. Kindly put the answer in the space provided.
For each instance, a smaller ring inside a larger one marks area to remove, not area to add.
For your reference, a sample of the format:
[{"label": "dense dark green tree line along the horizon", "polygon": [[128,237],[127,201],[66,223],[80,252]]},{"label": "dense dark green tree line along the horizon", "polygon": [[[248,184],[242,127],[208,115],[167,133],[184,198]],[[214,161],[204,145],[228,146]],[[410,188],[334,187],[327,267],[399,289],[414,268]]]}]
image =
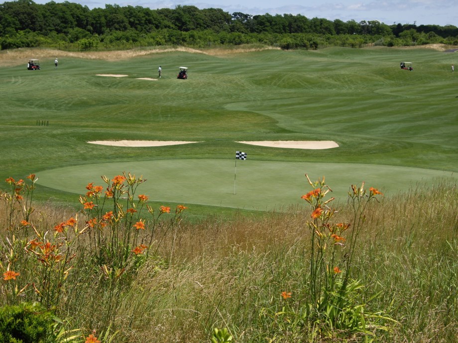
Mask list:
[{"label": "dense dark green tree line along the horizon", "polygon": [[365,44],[410,46],[430,43],[458,45],[454,25],[392,24],[369,20],[307,18],[297,14],[229,14],[220,8],[174,9],[106,4],[89,9],[78,3],[31,0],[0,5],[1,49],[58,47],[72,50],[184,45],[267,44],[282,49]]}]

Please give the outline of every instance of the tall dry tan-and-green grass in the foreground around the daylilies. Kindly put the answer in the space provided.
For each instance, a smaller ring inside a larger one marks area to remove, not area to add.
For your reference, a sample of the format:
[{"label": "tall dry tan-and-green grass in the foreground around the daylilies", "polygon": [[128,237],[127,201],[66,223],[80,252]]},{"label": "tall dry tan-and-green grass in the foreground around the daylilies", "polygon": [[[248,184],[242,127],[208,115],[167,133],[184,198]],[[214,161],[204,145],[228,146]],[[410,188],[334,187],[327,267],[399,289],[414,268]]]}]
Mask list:
[{"label": "tall dry tan-and-green grass in the foreground around the daylilies", "polygon": [[[364,284],[360,300],[367,308],[383,309],[398,322],[374,342],[458,342],[457,205],[457,185],[446,182],[370,204],[353,277]],[[350,206],[336,207],[339,220],[347,222]],[[34,215],[48,213],[52,227],[53,220],[71,215],[66,211],[48,204]],[[198,223],[184,219],[173,230],[159,228],[157,252],[118,290],[109,333],[113,342],[208,342],[213,327],[228,328],[235,342],[297,342],[297,337],[270,336],[272,328],[260,311],[280,304],[285,290],[301,301],[309,268],[309,218],[309,211],[298,207],[261,218],[214,216]],[[4,267],[4,242],[1,250]],[[71,328],[105,333],[105,276],[90,253],[77,254],[57,313]]]}]

